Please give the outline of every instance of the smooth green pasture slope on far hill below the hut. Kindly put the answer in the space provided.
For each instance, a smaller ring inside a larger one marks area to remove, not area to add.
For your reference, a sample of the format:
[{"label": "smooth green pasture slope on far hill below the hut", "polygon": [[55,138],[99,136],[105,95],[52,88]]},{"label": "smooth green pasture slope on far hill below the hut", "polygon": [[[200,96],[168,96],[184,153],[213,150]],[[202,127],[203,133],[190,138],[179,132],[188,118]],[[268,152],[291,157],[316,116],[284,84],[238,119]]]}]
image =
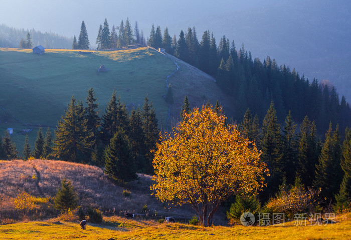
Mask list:
[{"label": "smooth green pasture slope on far hill below the hut", "polygon": [[[98,73],[102,64],[108,72]],[[33,128],[33,147],[38,126],[44,126],[44,132],[47,126],[57,126],[72,95],[85,102],[89,88],[94,88],[102,113],[114,90],[126,105],[142,107],[147,95],[164,123],[165,79],[174,70],[172,61],[148,48],[84,55],[73,50],[34,55],[30,50],[0,49],[0,135],[13,128],[22,152],[25,135],[19,133]]]}]

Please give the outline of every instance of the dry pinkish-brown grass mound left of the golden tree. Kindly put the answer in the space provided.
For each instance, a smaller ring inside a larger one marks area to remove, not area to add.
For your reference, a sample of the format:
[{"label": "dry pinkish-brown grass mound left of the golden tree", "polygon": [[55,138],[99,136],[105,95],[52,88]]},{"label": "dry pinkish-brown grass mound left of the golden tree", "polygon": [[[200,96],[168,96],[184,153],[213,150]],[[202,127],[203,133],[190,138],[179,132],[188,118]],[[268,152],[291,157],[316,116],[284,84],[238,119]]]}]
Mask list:
[{"label": "dry pinkish-brown grass mound left of the golden tree", "polygon": [[[0,212],[13,212],[14,198],[23,191],[31,192],[37,197],[54,197],[62,179],[66,177],[77,191],[78,204],[82,207],[92,206],[116,215],[122,215],[124,211],[145,214],[142,208],[146,204],[150,216],[156,214],[156,217],[170,215],[191,218],[194,215],[195,212],[188,207],[165,208],[166,205],[151,196],[151,176],[138,176],[138,180],[117,186],[96,166],[38,159],[0,161]],[[123,190],[126,189],[131,192],[130,196],[123,195]],[[227,223],[223,209],[216,214],[216,224]]]}]

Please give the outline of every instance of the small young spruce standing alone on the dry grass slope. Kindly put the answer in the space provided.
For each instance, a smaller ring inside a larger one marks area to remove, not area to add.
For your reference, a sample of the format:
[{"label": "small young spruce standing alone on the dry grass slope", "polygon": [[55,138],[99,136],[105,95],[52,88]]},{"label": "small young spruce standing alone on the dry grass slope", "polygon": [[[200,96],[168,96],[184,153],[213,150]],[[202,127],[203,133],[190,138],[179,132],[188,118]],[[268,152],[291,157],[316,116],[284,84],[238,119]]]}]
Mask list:
[{"label": "small young spruce standing alone on the dry grass slope", "polygon": [[67,213],[74,210],[78,205],[78,195],[74,191],[70,180],[64,178],[61,182],[61,188],[57,191],[54,198],[55,208]]}]

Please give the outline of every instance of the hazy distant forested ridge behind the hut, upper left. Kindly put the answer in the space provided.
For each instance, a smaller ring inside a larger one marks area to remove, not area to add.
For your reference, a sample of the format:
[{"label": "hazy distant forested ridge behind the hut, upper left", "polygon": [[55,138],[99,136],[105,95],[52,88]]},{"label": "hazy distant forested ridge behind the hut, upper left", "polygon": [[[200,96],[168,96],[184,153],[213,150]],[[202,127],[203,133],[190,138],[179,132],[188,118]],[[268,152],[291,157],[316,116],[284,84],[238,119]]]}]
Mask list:
[{"label": "hazy distant forested ridge behind the hut, upper left", "polygon": [[34,29],[16,29],[4,24],[0,25],[0,47],[18,48],[21,39],[25,39],[30,33],[33,46],[42,45],[44,48],[70,49],[72,48],[73,38],[59,36],[55,33],[42,33]]}]

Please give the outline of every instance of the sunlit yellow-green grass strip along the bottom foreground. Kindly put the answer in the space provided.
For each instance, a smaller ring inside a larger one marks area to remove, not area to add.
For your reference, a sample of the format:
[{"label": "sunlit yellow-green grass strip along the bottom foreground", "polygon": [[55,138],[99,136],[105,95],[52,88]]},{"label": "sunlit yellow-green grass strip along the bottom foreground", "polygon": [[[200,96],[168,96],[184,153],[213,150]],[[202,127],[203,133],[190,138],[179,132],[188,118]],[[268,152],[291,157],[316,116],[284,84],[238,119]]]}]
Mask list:
[{"label": "sunlit yellow-green grass strip along the bottom foreground", "polygon": [[188,224],[159,224],[142,219],[106,217],[103,224],[89,224],[80,229],[78,221],[35,221],[0,225],[2,239],[350,239],[351,215],[342,215],[335,224],[296,226],[203,228]]}]

